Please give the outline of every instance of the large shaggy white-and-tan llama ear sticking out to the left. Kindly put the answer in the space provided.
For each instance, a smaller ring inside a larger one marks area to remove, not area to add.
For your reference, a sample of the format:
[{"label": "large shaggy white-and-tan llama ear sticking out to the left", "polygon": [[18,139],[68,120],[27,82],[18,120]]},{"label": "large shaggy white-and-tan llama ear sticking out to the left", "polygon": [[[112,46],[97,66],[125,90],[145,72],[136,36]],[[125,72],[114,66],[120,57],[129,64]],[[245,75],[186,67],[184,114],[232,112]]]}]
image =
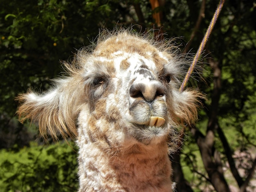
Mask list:
[{"label": "large shaggy white-and-tan llama ear sticking out to the left", "polygon": [[[79,113],[81,94],[78,83],[73,78],[58,80],[57,86],[45,94],[29,91],[20,94],[17,114],[23,123],[26,119],[38,122],[40,135],[45,139],[50,134],[54,140],[61,134],[77,136],[76,118]],[[81,87],[80,87],[81,88]]]}]

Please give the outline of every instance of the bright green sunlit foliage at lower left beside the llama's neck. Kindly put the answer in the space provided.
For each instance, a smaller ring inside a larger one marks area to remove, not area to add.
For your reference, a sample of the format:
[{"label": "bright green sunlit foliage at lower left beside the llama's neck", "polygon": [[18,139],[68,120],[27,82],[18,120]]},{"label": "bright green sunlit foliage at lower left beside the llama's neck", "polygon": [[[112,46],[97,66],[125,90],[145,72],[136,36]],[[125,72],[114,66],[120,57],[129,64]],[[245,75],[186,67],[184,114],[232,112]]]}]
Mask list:
[{"label": "bright green sunlit foliage at lower left beside the llama's neck", "polygon": [[[70,143],[72,145],[72,143]],[[67,143],[2,150],[0,186],[3,191],[76,191],[76,152]],[[60,190],[61,189],[61,190]]]}]

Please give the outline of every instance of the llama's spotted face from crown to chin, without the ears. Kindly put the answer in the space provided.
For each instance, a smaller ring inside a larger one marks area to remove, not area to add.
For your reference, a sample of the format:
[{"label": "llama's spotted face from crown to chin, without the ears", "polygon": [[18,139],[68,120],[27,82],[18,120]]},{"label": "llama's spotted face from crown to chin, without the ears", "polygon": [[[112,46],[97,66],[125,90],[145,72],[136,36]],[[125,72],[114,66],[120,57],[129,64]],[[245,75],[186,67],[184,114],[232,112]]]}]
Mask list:
[{"label": "llama's spotted face from crown to chin, without the ears", "polygon": [[[171,98],[179,74],[171,54],[123,33],[101,42],[85,62],[86,118],[91,116],[93,123],[84,127],[108,125],[102,134],[109,141],[130,137],[148,145],[167,139],[173,131]],[[85,115],[79,118],[83,122]]]}]

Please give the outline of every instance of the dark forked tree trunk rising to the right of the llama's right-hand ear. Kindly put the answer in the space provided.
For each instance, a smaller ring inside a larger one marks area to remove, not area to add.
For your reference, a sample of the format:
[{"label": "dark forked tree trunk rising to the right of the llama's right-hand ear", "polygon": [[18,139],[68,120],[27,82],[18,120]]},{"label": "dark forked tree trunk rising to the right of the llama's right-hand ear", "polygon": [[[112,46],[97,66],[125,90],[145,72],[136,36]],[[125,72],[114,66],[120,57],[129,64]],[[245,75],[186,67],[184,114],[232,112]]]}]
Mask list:
[{"label": "dark forked tree trunk rising to the right of the llama's right-hand ear", "polygon": [[[220,62],[222,60],[220,59]],[[214,132],[218,128],[218,105],[221,94],[221,69],[220,63],[209,58],[209,64],[213,69],[213,92],[211,97],[211,109],[207,132],[204,136],[195,127],[191,128],[196,143],[198,144],[204,168],[207,171],[209,180],[217,192],[229,192],[229,186],[224,178],[220,156],[214,148]]]}]

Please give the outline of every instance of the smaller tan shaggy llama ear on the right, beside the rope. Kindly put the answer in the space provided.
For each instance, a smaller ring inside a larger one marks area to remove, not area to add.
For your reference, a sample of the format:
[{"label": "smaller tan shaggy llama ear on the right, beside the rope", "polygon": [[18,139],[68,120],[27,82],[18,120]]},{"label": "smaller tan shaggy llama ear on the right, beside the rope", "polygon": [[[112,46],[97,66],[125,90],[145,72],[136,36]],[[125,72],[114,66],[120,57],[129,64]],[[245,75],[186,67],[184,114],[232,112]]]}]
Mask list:
[{"label": "smaller tan shaggy llama ear on the right, beside the rope", "polygon": [[174,99],[177,105],[177,110],[175,110],[177,120],[188,125],[195,123],[198,119],[198,107],[202,105],[200,99],[204,98],[204,95],[196,90],[186,89],[183,92],[174,92]]}]

